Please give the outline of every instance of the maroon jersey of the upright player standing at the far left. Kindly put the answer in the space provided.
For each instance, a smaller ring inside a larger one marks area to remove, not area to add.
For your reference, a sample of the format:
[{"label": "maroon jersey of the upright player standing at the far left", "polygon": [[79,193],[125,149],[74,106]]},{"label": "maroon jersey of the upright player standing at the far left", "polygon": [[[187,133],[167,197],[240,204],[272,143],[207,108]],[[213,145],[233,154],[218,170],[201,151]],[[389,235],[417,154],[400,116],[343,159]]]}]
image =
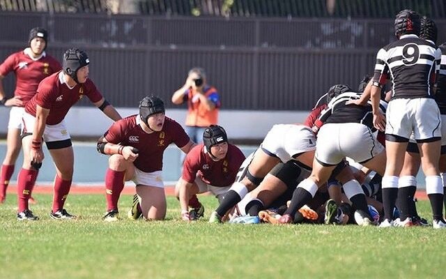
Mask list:
[{"label": "maroon jersey of the upright player standing at the far left", "polygon": [[15,73],[14,96],[20,97],[26,104],[37,91],[39,82],[45,77],[61,70],[61,64],[52,56],[43,55],[33,60],[25,51],[15,52],[0,65],[0,75]]}]

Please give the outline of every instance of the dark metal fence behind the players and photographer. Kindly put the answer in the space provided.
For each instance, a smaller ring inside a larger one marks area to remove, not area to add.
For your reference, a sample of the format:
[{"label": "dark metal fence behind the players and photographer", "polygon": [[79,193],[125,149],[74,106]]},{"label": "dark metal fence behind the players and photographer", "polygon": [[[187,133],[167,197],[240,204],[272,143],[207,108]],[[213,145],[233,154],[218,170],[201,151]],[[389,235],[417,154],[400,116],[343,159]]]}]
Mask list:
[{"label": "dark metal fence behind the players and photographer", "polygon": [[[446,20],[436,22],[443,42]],[[332,84],[356,88],[394,40],[393,20],[0,13],[0,59],[23,48],[35,26],[49,30],[58,59],[68,47],[86,50],[92,80],[120,107],[148,93],[174,107],[171,94],[201,66],[226,110],[309,110]],[[5,85],[12,92],[13,78]]]}]

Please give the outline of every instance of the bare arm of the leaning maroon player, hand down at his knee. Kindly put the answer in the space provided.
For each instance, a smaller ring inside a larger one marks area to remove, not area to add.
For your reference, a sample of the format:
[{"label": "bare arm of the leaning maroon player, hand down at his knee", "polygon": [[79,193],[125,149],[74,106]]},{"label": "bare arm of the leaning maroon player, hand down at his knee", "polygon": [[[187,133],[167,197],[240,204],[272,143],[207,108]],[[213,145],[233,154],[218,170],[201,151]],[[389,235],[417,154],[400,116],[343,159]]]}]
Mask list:
[{"label": "bare arm of the leaning maroon player, hand down at his knee", "polygon": [[43,155],[42,151],[42,137],[45,131],[45,126],[47,122],[47,117],[49,114],[49,109],[36,106],[36,121],[34,123],[33,135],[31,135],[31,162],[32,163],[42,163]]}]

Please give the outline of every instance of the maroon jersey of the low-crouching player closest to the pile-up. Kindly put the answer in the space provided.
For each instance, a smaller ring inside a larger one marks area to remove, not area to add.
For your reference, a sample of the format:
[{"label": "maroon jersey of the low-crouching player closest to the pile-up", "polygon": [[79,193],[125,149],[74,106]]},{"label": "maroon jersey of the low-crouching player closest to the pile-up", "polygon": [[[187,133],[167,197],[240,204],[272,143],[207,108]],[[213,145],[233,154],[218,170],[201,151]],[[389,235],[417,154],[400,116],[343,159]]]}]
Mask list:
[{"label": "maroon jersey of the low-crouching player closest to the pile-up", "polygon": [[231,186],[244,160],[245,155],[233,144],[228,144],[226,157],[217,162],[207,152],[204,153],[204,144],[199,144],[187,153],[181,177],[193,183],[198,174],[202,181],[212,186]]}]

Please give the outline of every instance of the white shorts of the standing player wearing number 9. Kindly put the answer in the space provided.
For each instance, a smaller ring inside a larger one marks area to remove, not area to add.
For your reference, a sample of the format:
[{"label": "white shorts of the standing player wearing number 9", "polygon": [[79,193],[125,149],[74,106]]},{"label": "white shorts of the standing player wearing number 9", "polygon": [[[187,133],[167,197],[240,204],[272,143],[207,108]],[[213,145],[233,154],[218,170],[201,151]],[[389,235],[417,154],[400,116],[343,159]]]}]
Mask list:
[{"label": "white shorts of the standing player wearing number 9", "polygon": [[387,105],[385,133],[414,140],[441,137],[440,110],[430,98],[395,99]]}]

